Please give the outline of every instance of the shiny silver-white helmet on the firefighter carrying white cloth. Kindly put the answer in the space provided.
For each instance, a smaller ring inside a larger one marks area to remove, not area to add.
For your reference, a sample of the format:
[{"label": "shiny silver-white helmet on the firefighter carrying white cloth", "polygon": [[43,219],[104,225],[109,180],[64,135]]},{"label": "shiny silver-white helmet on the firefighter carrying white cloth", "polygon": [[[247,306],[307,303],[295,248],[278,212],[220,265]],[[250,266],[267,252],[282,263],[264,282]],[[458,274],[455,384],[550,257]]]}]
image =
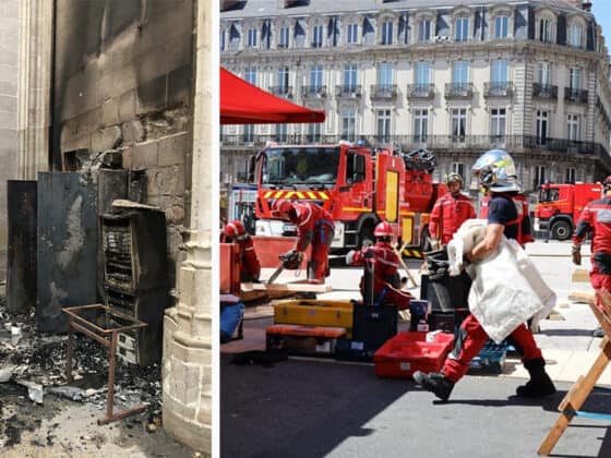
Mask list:
[{"label": "shiny silver-white helmet on the firefighter carrying white cloth", "polygon": [[482,154],[471,167],[471,172],[490,191],[519,191],[514,159],[504,149],[490,149]]}]

